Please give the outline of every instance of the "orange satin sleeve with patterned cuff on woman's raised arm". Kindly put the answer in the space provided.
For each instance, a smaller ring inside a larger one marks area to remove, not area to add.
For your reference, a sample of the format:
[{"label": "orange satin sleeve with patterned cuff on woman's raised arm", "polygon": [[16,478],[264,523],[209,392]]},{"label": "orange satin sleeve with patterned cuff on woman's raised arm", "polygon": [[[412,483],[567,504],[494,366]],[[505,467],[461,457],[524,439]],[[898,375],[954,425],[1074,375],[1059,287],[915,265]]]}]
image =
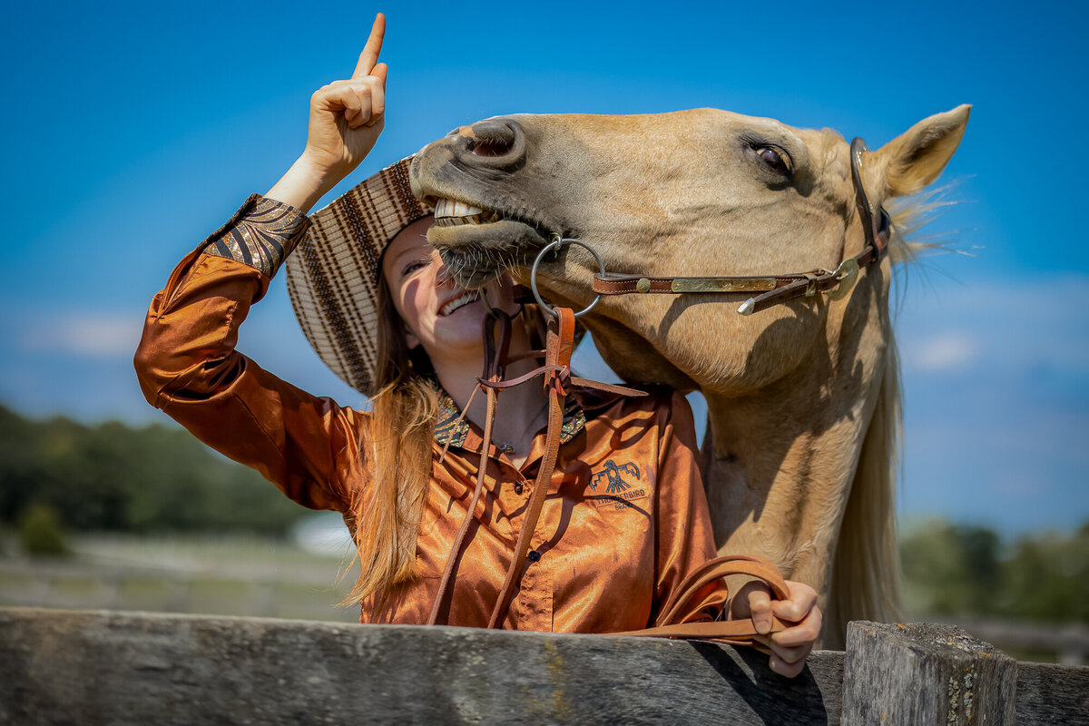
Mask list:
[{"label": "orange satin sleeve with patterned cuff on woman's raised arm", "polygon": [[365,468],[367,415],[305,393],[234,349],[249,306],[308,226],[298,210],[249,197],[152,298],[134,364],[148,402],[197,439],[304,506],[344,512],[340,472]]}]

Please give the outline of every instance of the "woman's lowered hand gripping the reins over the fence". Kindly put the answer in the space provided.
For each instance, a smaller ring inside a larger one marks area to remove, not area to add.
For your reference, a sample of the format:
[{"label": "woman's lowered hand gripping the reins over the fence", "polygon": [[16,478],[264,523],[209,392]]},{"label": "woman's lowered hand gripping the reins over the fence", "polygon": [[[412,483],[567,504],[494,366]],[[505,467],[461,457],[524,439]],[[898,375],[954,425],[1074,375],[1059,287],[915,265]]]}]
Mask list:
[{"label": "woman's lowered hand gripping the reins over the fence", "polygon": [[[806,657],[820,636],[821,612],[817,591],[804,582],[786,580],[790,600],[772,600],[771,590],[762,582],[749,582],[731,601],[732,619],[751,617],[758,632],[756,642],[771,653],[768,665],[775,673],[793,678],[802,673]],[[791,627],[771,632],[772,615],[792,623]]]}]

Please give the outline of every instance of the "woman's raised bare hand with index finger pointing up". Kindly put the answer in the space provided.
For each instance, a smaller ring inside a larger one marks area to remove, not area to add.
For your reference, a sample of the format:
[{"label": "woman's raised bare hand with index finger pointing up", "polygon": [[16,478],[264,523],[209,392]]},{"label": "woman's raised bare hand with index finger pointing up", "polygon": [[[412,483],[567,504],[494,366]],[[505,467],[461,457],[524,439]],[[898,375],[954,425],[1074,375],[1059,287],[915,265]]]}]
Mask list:
[{"label": "woman's raised bare hand with index finger pointing up", "polygon": [[386,16],[378,13],[351,78],[333,81],[310,97],[303,155],[266,197],[308,212],[355,171],[386,124],[386,63],[378,62]]}]

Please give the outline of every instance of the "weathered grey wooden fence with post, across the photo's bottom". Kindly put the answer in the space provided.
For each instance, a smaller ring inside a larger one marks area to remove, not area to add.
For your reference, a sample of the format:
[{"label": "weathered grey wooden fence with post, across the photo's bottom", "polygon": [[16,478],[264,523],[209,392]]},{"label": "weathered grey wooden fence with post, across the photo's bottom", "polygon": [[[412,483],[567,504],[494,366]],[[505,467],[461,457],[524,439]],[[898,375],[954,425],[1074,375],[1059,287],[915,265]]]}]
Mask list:
[{"label": "weathered grey wooden fence with post, across the photo's bottom", "polygon": [[1056,724],[1089,667],[854,623],[795,679],[706,642],[0,608],[0,723]]}]

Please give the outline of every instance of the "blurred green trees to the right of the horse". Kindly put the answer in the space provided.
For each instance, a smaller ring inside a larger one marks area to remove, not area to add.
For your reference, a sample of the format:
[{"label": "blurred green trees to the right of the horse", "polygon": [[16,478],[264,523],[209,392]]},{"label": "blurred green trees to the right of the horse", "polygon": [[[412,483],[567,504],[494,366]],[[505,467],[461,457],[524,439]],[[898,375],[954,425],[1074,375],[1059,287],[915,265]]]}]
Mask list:
[{"label": "blurred green trees to the right of the horse", "polygon": [[1089,623],[1089,522],[1012,542],[932,520],[901,537],[911,615]]}]

